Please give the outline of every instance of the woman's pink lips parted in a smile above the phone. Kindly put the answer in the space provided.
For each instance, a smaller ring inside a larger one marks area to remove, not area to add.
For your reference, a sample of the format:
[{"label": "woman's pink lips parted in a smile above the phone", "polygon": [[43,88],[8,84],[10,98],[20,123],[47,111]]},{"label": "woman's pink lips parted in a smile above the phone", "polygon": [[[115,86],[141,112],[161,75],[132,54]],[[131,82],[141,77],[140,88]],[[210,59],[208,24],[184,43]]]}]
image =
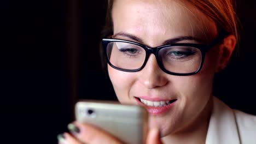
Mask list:
[{"label": "woman's pink lips parted in a smile above the phone", "polygon": [[[166,101],[166,99],[159,99],[159,98],[148,98],[148,97],[139,97],[142,99],[150,100],[150,101]],[[148,106],[143,104],[138,97],[135,97],[137,103],[143,107],[145,107],[148,110],[148,113],[150,115],[160,115],[162,113],[167,112],[172,108],[172,106],[176,103],[177,99],[172,99],[173,101],[171,104],[168,104],[166,106],[159,106],[159,107],[154,107],[154,106]]]}]

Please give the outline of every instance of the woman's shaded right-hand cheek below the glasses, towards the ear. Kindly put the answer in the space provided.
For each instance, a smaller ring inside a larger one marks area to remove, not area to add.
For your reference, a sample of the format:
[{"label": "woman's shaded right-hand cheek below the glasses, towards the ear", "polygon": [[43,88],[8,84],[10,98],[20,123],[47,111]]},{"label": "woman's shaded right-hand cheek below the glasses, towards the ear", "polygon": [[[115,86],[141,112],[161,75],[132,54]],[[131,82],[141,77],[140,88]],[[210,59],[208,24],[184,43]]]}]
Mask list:
[{"label": "woman's shaded right-hand cheek below the glasses, towards the ear", "polygon": [[172,85],[184,98],[200,98],[212,92],[213,78],[218,66],[218,47],[213,47],[206,53],[199,73],[191,76],[174,76]]}]

